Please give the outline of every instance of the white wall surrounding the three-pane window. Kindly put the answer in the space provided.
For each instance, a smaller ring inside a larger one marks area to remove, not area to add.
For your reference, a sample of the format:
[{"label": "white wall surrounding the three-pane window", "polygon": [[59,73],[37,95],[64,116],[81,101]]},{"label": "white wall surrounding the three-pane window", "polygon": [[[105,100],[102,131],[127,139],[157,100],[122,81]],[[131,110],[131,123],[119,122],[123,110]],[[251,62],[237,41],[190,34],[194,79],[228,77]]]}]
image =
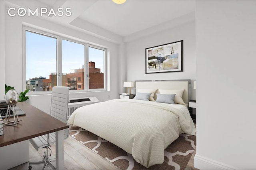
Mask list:
[{"label": "white wall surrounding the three-pane window", "polygon": [[[96,96],[100,101],[118,98],[118,94],[120,93],[118,88],[122,87],[122,85],[119,81],[120,77],[118,77],[119,53],[118,45],[116,43],[108,42],[106,40],[102,40],[100,38],[79,32],[72,28],[44,20],[40,16],[20,17],[16,15],[14,17],[10,17],[7,13],[7,10],[10,6],[8,6],[8,4],[5,5],[5,63],[8,65],[8,67],[6,66],[5,69],[1,68],[1,70],[5,72],[4,79],[7,85],[14,86],[18,93],[24,91],[24,85],[22,85],[22,24],[26,24],[28,26],[40,28],[44,31],[58,32],[88,43],[92,43],[94,45],[98,44],[107,47],[107,62],[109,63],[109,81],[107,84],[110,85],[110,87],[108,87],[110,91],[76,93],[71,94],[70,97]],[[2,83],[0,85],[2,85]],[[38,107],[39,109],[48,112],[50,108],[50,95],[30,96],[28,102]]]}]

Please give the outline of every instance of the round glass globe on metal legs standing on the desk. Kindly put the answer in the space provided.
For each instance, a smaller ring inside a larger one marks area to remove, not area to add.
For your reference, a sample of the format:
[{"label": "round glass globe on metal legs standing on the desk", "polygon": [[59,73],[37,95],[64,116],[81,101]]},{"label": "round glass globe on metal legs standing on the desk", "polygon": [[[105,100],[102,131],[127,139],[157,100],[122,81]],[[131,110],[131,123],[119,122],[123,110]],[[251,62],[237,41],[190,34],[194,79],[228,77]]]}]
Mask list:
[{"label": "round glass globe on metal legs standing on the desk", "polygon": [[[22,120],[18,119],[18,115],[17,115],[17,111],[16,111],[16,104],[18,103],[19,95],[18,95],[17,91],[9,90],[5,94],[4,99],[5,99],[6,103],[8,104],[8,109],[7,109],[7,113],[6,113],[6,116],[5,116],[4,124],[5,125],[16,125],[17,123],[22,121]],[[12,107],[12,110],[13,110],[13,121],[10,120],[11,107]],[[6,121],[8,123],[6,123]]]}]

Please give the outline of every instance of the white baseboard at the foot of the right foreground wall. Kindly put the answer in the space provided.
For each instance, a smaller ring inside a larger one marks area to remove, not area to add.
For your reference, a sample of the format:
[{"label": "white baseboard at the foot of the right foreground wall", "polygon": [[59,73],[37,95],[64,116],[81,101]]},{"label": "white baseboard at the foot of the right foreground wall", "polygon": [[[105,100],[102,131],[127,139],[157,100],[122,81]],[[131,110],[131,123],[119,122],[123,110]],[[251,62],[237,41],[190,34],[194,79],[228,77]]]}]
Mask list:
[{"label": "white baseboard at the foot of the right foreground wall", "polygon": [[221,162],[205,158],[198,154],[196,154],[194,157],[194,167],[200,170],[236,170],[237,169],[232,166],[223,164]]}]

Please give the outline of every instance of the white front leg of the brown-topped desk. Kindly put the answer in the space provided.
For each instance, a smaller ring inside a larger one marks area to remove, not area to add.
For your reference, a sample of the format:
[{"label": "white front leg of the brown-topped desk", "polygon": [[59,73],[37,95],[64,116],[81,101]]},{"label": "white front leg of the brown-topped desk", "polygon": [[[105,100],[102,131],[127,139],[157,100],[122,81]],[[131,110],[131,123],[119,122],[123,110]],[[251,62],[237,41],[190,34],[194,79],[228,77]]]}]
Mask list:
[{"label": "white front leg of the brown-topped desk", "polygon": [[59,130],[56,132],[56,170],[64,169],[64,132]]}]

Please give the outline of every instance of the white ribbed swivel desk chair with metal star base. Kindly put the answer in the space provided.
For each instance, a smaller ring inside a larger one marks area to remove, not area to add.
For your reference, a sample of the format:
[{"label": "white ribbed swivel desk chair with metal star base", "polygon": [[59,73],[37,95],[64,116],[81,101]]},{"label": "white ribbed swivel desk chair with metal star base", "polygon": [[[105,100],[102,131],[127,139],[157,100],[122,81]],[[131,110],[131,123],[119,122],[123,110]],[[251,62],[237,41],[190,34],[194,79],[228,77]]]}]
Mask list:
[{"label": "white ribbed swivel desk chair with metal star base", "polygon": [[[55,117],[56,119],[66,124],[68,123],[67,116],[68,116],[69,89],[70,87],[62,87],[62,86],[55,86],[52,88],[51,116]],[[68,138],[68,135],[69,135],[69,128],[66,128],[64,129],[64,139]],[[29,141],[36,150],[38,150],[39,148],[46,148],[46,152],[44,152],[44,160],[40,162],[30,162],[29,164],[44,163],[43,170],[46,168],[46,166],[51,166],[53,169],[56,169],[52,164],[52,161],[56,161],[56,160],[50,159],[48,156],[49,146],[55,143],[55,132],[29,139]],[[51,150],[51,153],[52,153],[52,150]],[[29,166],[29,169],[31,168],[32,167]]]}]

